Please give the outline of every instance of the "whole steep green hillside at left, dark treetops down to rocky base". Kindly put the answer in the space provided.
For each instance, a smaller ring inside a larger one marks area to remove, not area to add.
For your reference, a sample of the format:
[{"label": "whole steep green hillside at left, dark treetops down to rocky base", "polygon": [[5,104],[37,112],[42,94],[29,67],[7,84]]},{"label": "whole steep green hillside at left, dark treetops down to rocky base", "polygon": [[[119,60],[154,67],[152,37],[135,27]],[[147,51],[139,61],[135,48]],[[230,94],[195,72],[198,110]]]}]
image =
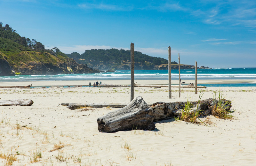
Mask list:
[{"label": "whole steep green hillside at left, dark treetops down to rocky base", "polygon": [[58,48],[44,49],[41,42],[21,37],[9,25],[0,23],[0,76],[94,72],[98,71],[77,64]]}]

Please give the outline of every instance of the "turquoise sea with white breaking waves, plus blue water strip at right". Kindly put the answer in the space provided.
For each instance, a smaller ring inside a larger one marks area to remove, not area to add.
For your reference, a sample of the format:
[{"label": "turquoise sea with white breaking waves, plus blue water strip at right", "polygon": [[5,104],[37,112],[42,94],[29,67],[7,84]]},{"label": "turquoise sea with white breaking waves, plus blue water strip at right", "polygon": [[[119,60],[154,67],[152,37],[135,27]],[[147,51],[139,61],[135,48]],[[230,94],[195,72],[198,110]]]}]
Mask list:
[{"label": "turquoise sea with white breaking waves, plus blue water strip at right", "polygon": [[[135,79],[168,80],[168,70],[135,70]],[[195,70],[181,70],[181,80],[195,79]],[[129,70],[96,74],[19,75],[0,77],[0,82],[59,81],[59,80],[124,80],[130,79]],[[179,79],[179,71],[172,70],[172,79]],[[197,79],[256,79],[256,68],[213,68],[197,70]],[[206,86],[256,86],[255,84],[215,84]]]}]

